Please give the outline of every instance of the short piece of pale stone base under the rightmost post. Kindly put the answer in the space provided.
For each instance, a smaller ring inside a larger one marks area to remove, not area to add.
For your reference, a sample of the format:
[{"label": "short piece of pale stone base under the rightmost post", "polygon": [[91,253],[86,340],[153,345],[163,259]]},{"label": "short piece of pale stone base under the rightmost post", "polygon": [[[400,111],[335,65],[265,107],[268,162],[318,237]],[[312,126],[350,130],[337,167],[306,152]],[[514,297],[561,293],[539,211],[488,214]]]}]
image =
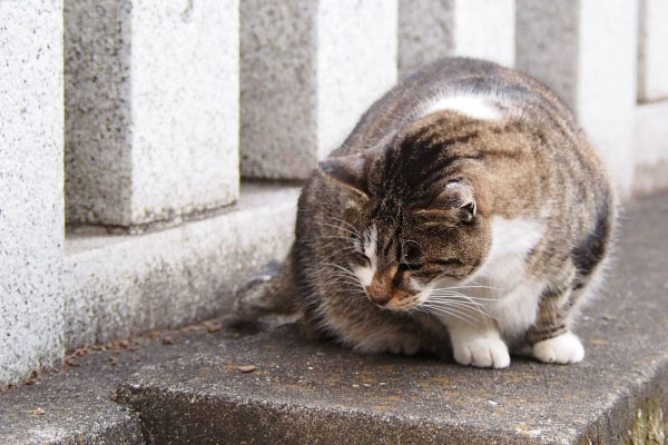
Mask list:
[{"label": "short piece of pale stone base under the rightmost post", "polygon": [[668,100],[637,106],[635,119],[633,191],[668,189]]}]

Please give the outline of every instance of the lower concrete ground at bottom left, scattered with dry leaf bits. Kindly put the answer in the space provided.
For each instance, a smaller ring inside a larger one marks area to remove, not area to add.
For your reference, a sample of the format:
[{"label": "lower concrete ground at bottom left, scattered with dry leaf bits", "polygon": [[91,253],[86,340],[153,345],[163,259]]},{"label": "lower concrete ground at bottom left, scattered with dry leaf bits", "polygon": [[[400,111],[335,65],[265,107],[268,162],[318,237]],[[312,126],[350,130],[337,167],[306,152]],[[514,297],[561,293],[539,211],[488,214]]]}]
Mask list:
[{"label": "lower concrete ground at bottom left, scattered with dry leaf bits", "polygon": [[60,372],[0,387],[0,444],[144,444],[138,416],[112,400],[117,386],[146,364],[212,350],[239,335],[216,322],[70,352]]}]

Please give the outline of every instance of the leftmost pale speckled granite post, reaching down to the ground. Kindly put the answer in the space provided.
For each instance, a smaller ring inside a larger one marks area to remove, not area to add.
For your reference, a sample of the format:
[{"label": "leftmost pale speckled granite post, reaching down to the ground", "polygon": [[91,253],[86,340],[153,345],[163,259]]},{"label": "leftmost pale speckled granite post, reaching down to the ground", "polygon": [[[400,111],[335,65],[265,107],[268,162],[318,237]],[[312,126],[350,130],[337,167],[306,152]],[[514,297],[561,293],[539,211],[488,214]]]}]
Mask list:
[{"label": "leftmost pale speckled granite post, reaching down to the ground", "polygon": [[0,386],[61,360],[62,2],[0,2]]}]

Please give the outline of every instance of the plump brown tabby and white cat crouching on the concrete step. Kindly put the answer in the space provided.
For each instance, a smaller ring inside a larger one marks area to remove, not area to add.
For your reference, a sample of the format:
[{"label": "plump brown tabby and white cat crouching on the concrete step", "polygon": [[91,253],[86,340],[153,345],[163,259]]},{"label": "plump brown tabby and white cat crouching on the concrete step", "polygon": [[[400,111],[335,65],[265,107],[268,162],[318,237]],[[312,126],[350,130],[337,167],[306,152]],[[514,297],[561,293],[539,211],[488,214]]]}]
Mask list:
[{"label": "plump brown tabby and white cat crouching on the concrete step", "polygon": [[571,327],[615,220],[605,167],[553,92],[448,58],[385,93],[320,162],[282,268],[235,310],[297,312],[311,334],[364,353],[578,363]]}]

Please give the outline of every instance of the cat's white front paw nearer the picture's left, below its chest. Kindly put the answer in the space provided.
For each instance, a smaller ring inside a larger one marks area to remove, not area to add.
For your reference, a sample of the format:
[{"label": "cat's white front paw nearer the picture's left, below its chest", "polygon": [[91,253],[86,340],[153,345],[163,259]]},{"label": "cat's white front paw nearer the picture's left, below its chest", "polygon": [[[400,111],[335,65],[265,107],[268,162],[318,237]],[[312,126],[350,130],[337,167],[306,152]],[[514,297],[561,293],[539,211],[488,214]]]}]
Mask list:
[{"label": "cat's white front paw nearer the picture's left, below its chest", "polygon": [[454,359],[460,365],[505,368],[510,365],[508,346],[493,326],[448,326]]}]

